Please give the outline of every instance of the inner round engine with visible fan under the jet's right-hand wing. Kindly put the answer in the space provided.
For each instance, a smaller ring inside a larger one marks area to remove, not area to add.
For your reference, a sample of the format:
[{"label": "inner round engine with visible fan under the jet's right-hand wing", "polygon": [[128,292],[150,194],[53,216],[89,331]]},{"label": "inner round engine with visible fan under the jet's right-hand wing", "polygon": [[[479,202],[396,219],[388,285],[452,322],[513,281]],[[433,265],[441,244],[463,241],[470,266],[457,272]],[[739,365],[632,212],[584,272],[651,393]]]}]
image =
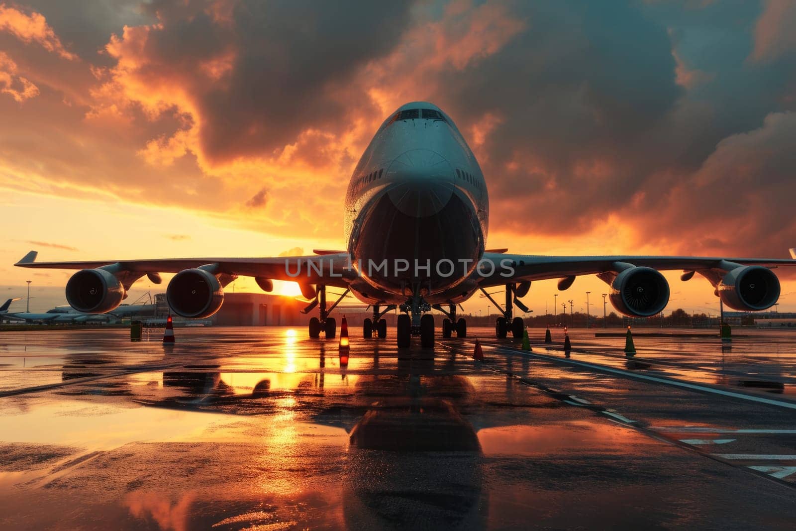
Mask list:
[{"label": "inner round engine with visible fan under the jet's right-hand wing", "polygon": [[631,317],[650,317],[669,303],[669,283],[652,267],[628,267],[611,283],[611,304]]}]

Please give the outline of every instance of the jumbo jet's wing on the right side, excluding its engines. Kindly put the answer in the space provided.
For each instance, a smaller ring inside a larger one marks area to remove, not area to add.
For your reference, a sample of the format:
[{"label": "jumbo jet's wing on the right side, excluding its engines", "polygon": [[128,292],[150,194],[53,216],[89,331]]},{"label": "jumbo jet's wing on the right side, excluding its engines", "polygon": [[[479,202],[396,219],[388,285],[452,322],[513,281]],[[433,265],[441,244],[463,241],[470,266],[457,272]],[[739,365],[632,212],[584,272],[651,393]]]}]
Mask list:
[{"label": "jumbo jet's wing on the right side, excluding its engines", "polygon": [[[790,249],[796,256],[796,249]],[[740,265],[759,265],[775,268],[794,266],[796,259],[778,258],[723,258],[717,256],[538,256],[485,252],[484,260],[491,263],[480,266],[479,285],[498,286],[526,280],[563,279],[579,275],[599,275],[616,271],[616,264],[652,267],[660,271],[728,270]],[[493,271],[494,272],[491,272]],[[486,275],[490,272],[489,275]],[[509,275],[509,272],[511,273]]]}]

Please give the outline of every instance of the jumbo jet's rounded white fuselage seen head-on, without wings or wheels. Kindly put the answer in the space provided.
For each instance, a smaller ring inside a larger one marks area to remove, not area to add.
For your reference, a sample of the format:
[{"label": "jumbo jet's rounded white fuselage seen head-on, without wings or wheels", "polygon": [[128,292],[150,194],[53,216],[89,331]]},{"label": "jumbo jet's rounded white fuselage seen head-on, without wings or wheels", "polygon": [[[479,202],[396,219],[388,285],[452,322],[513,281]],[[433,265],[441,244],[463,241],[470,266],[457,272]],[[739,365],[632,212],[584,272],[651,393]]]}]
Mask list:
[{"label": "jumbo jet's rounded white fuselage seen head-on, without wings or wheels", "polygon": [[431,304],[476,289],[489,198],[481,168],[453,120],[431,103],[401,106],[379,127],[345,197],[345,240],[368,303]]}]

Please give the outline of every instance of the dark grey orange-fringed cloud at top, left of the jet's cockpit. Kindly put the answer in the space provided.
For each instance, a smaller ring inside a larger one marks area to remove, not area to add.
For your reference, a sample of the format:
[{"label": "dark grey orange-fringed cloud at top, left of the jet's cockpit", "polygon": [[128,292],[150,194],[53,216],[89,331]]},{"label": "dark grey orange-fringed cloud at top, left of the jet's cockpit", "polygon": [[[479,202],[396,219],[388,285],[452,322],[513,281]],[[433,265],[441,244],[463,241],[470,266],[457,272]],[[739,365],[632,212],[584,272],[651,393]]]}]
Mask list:
[{"label": "dark grey orange-fringed cloud at top, left of the jet's cockpit", "polygon": [[131,76],[188,90],[206,158],[267,156],[309,127],[342,132],[374,111],[350,80],[398,44],[409,6],[248,0],[216,9],[158,1],[146,9],[159,25],[126,34],[118,53],[135,55]]}]

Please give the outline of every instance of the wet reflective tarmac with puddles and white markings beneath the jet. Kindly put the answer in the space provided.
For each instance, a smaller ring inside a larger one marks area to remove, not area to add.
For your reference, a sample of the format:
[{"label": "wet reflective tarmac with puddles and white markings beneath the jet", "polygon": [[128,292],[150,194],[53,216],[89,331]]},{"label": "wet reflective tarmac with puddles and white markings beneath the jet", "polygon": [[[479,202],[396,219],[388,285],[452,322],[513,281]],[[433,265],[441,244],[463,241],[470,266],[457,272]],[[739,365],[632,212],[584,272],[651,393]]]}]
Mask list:
[{"label": "wet reflective tarmac with puddles and white markings beneath the jet", "polygon": [[552,333],[3,332],[0,529],[792,529],[796,334]]}]

